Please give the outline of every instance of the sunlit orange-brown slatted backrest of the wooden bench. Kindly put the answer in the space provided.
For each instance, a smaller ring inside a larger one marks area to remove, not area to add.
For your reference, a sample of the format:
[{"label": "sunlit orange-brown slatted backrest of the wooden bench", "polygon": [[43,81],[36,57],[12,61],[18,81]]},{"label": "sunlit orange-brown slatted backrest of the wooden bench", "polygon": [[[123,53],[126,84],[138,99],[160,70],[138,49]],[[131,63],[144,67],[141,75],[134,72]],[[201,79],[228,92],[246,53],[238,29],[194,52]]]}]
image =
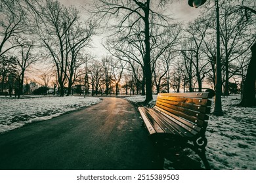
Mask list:
[{"label": "sunlit orange-brown slatted backrest of the wooden bench", "polygon": [[209,120],[211,101],[208,92],[160,93],[156,108],[184,124],[189,131],[205,132]]}]

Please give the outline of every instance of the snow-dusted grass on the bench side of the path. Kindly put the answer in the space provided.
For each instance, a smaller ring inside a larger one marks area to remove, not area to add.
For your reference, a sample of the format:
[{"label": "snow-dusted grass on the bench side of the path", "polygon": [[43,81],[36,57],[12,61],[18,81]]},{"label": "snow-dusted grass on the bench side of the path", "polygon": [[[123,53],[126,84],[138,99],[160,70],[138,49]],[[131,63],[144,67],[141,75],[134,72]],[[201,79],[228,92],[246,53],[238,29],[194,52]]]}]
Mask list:
[{"label": "snow-dusted grass on the bench side of the path", "polygon": [[[144,97],[129,97],[133,102],[144,101]],[[156,95],[154,95],[154,101]],[[222,98],[224,116],[210,115],[206,137],[206,156],[211,169],[256,170],[256,107],[236,107],[240,95]],[[214,103],[212,104],[212,110]],[[165,159],[165,168],[173,162]],[[169,167],[168,167],[169,165]]]}]

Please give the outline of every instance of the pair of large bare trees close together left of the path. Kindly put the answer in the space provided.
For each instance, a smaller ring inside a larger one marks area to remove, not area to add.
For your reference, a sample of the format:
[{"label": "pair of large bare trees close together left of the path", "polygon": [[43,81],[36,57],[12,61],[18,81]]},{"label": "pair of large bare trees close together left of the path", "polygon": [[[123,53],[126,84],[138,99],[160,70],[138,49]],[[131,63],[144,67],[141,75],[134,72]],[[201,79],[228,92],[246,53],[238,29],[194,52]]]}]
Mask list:
[{"label": "pair of large bare trees close together left of the path", "polygon": [[79,11],[75,7],[64,7],[58,1],[37,2],[33,8],[37,33],[56,67],[60,96],[64,96],[67,82],[70,95],[78,68],[83,64],[79,53],[89,46],[95,26],[91,22],[79,22]]}]

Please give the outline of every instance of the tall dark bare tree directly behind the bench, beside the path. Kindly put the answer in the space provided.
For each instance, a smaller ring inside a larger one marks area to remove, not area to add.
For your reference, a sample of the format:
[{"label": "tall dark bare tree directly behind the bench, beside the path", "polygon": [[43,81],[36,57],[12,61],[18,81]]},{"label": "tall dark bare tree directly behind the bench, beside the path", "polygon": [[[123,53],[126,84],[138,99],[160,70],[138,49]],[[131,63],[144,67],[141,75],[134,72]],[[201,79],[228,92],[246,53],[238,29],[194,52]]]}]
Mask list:
[{"label": "tall dark bare tree directly behind the bench, beside the path", "polygon": [[[158,1],[161,3],[161,1]],[[125,32],[127,35],[125,38],[133,36],[132,29],[133,27],[141,25],[142,31],[140,31],[140,40],[142,44],[144,44],[144,54],[143,58],[143,72],[146,81],[146,100],[145,102],[149,102],[152,100],[152,65],[150,58],[150,41],[152,41],[152,34],[150,31],[152,30],[153,24],[158,24],[163,26],[163,21],[165,18],[153,8],[158,6],[154,6],[156,1],[153,3],[150,0],[146,1],[117,1],[117,0],[100,0],[95,1],[96,14],[101,14],[102,19],[106,18],[109,20],[111,16],[119,16],[121,20],[118,21],[117,24],[117,32]],[[154,16],[154,18],[152,18]],[[105,20],[106,20],[105,19]],[[167,21],[165,21],[167,23]]]}]

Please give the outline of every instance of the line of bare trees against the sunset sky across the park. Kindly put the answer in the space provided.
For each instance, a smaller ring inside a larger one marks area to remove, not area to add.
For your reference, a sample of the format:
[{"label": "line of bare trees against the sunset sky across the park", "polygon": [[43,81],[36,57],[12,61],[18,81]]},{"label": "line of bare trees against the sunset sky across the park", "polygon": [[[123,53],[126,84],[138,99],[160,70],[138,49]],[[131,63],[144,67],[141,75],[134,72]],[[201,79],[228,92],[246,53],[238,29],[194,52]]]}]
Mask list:
[{"label": "line of bare trees against the sunset sky across the park", "polygon": [[[201,92],[203,86],[215,90],[216,17],[210,1],[188,24],[164,13],[174,0],[94,1],[88,20],[81,10],[60,2],[1,1],[2,91],[9,84],[20,95],[26,71],[39,63],[48,68],[41,81],[51,80],[60,96],[65,87],[70,95],[77,84],[93,94],[114,88],[116,95],[122,84],[126,91],[146,95],[145,102],[152,99],[153,88],[156,93]],[[256,39],[255,4],[219,4],[223,95],[229,95],[234,83],[245,83]],[[87,48],[102,29],[109,30],[102,42],[108,55],[97,58]]]}]

